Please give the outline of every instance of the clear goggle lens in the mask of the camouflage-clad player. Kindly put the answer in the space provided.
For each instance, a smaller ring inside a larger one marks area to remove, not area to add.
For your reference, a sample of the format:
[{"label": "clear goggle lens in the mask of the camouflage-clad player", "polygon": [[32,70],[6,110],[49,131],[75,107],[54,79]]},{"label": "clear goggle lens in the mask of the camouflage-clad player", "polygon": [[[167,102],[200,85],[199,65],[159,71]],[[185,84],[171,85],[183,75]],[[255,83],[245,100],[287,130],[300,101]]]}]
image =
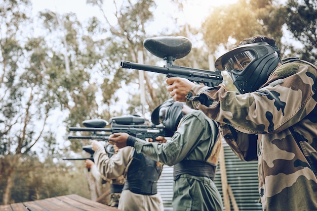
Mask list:
[{"label": "clear goggle lens in the mask of the camouflage-clad player", "polygon": [[228,72],[231,70],[241,72],[246,69],[254,59],[255,53],[251,50],[246,50],[231,57],[224,65],[224,69]]}]

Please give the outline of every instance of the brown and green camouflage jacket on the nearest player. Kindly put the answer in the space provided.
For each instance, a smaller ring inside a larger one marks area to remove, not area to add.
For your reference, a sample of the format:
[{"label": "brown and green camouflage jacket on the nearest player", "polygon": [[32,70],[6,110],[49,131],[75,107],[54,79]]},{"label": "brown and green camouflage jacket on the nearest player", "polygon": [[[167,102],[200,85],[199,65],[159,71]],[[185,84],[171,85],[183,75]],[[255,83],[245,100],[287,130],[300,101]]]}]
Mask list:
[{"label": "brown and green camouflage jacket on the nearest player", "polygon": [[186,103],[218,122],[241,160],[258,160],[263,210],[317,210],[316,92],[317,67],[294,59],[255,92],[194,85]]}]

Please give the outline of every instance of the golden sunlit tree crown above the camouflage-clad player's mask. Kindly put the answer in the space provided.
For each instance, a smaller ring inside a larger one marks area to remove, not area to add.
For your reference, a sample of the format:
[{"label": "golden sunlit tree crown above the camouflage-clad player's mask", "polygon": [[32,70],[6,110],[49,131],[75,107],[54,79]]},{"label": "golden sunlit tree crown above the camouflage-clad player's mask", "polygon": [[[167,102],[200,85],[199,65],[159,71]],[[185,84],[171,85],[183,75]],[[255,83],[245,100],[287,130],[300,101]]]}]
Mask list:
[{"label": "golden sunlit tree crown above the camouflage-clad player's mask", "polygon": [[204,40],[211,51],[229,49],[244,38],[267,35],[280,44],[285,23],[283,7],[274,0],[239,0],[217,7],[202,26]]}]

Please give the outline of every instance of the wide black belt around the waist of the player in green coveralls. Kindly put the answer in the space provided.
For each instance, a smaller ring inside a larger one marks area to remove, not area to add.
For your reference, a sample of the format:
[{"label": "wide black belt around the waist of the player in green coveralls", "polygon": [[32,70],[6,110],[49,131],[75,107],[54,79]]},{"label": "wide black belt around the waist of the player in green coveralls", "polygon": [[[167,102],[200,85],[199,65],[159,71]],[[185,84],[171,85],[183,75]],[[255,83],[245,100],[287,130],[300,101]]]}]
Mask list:
[{"label": "wide black belt around the waist of the player in green coveralls", "polygon": [[174,165],[174,180],[182,174],[190,174],[197,177],[215,178],[216,166],[205,161],[183,160]]}]

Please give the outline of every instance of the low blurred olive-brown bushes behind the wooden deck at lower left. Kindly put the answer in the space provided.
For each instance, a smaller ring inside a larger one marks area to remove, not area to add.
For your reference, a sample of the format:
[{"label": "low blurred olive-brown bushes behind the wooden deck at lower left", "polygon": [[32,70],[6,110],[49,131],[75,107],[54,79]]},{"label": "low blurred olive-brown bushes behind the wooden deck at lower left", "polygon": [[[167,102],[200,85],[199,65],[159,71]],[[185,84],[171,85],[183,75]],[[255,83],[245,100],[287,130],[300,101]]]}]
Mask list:
[{"label": "low blurred olive-brown bushes behind the wooden deck at lower left", "polygon": [[[11,156],[0,159],[1,170],[8,167]],[[61,159],[60,159],[61,160]],[[10,203],[32,201],[59,195],[76,193],[90,198],[88,183],[83,176],[85,169],[84,161],[74,163],[75,166],[63,165],[65,162],[46,160],[42,163],[34,154],[22,156],[19,159],[13,175],[14,186],[11,190]],[[6,176],[6,174],[1,174]],[[5,187],[4,177],[0,179],[0,185]],[[0,197],[3,197],[3,189]]]}]

